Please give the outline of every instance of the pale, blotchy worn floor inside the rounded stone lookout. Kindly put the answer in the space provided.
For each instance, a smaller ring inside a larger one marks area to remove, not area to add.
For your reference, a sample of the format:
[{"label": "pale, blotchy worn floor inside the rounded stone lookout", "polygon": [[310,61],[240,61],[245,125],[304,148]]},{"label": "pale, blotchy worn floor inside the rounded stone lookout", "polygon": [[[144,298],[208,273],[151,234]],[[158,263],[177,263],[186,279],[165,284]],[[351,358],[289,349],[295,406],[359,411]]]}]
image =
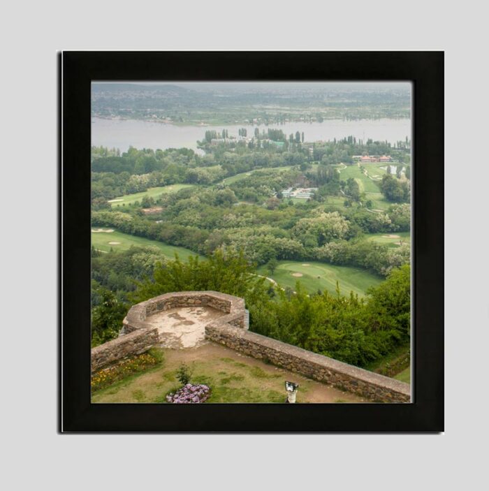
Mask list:
[{"label": "pale, blotchy worn floor inside the rounded stone lookout", "polygon": [[212,307],[175,307],[147,316],[146,322],[158,328],[161,346],[182,349],[205,343],[205,325],[224,315]]}]

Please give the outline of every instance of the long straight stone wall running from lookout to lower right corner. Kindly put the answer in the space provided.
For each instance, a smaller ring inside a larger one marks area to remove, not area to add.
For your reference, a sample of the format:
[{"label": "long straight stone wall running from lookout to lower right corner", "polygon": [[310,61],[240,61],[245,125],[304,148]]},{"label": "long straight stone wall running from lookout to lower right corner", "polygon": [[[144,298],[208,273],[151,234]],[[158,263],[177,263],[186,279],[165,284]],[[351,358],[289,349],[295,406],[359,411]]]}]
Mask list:
[{"label": "long straight stone wall running from lookout to lower right corner", "polygon": [[328,383],[374,402],[409,402],[409,384],[348,365],[255,332],[221,323],[205,327],[205,337],[246,355],[267,360],[291,372]]}]

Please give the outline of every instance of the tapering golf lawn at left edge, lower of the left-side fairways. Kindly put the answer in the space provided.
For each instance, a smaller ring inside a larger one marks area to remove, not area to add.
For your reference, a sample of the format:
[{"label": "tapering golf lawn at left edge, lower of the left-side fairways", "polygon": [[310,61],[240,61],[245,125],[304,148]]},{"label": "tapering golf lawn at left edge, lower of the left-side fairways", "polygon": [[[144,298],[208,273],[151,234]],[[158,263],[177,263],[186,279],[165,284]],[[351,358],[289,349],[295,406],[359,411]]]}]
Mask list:
[{"label": "tapering golf lawn at left edge, lower of the left-side fairways", "polygon": [[[169,259],[175,259],[175,252],[178,254],[182,261],[187,261],[189,256],[198,256],[194,251],[190,249],[185,249],[184,247],[177,247],[157,240],[145,239],[145,237],[135,237],[134,235],[129,235],[127,233],[117,232],[94,232],[93,230],[99,230],[99,228],[92,228],[92,245],[95,249],[99,251],[109,252],[110,249],[113,251],[125,251],[131,246],[140,247],[156,247],[159,249],[164,256]],[[108,228],[103,228],[102,230],[112,230]],[[118,244],[110,244],[110,242],[119,242]],[[202,256],[200,256],[202,257]]]}]

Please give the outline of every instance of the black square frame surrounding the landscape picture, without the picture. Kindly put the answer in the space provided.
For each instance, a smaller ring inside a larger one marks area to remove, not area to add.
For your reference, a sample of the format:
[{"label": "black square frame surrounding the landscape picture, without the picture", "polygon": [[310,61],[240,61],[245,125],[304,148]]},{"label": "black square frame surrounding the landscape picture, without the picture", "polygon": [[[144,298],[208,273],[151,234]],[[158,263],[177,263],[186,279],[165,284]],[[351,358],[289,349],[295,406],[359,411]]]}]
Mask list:
[{"label": "black square frame surrounding the landscape picture, without the picture", "polygon": [[[92,80],[412,81],[410,404],[91,404]],[[59,119],[59,432],[444,430],[443,52],[62,52]]]}]

